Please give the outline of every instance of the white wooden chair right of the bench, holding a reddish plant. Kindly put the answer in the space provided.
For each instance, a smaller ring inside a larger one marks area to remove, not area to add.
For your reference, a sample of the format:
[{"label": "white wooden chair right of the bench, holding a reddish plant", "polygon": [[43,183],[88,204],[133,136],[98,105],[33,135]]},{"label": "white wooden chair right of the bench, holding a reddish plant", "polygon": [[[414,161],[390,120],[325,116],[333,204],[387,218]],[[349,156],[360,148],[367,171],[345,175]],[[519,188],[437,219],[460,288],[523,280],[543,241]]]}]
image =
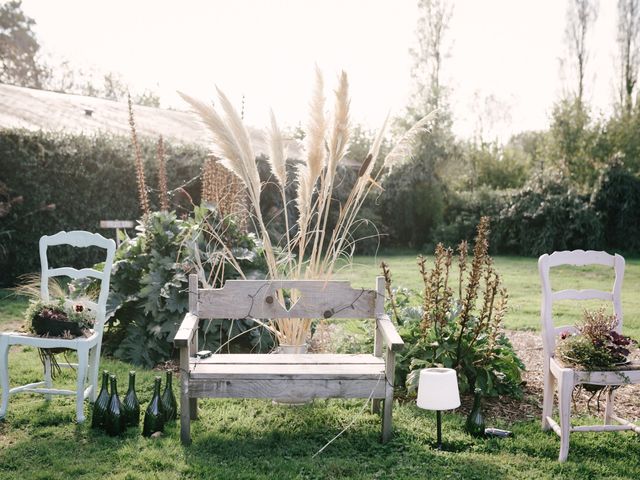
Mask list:
[{"label": "white wooden chair right of the bench, holding a reddish plant", "polygon": [[[550,269],[560,265],[603,265],[611,267],[615,273],[613,288],[610,292],[602,290],[559,290],[553,291],[549,278]],[[615,430],[634,430],[640,433],[640,427],[616,416],[613,413],[614,391],[607,392],[604,412],[604,425],[572,427],[570,423],[571,395],[575,386],[580,384],[615,386],[640,383],[640,366],[625,366],[624,371],[585,371],[569,368],[555,358],[556,337],[563,331],[576,332],[574,326],[554,326],[553,304],[559,300],[604,300],[613,304],[618,319],[616,331],[622,332],[622,303],[620,291],[624,276],[624,258],[596,251],[563,251],[551,255],[542,255],[538,260],[538,271],[542,282],[542,339],[544,346],[544,399],[542,406],[542,428],[553,429],[560,437],[560,455],[558,460],[566,461],[569,454],[569,435],[571,432],[603,432]],[[558,390],[558,409],[560,423],[552,418],[554,391]],[[617,424],[613,424],[613,422]]]}]

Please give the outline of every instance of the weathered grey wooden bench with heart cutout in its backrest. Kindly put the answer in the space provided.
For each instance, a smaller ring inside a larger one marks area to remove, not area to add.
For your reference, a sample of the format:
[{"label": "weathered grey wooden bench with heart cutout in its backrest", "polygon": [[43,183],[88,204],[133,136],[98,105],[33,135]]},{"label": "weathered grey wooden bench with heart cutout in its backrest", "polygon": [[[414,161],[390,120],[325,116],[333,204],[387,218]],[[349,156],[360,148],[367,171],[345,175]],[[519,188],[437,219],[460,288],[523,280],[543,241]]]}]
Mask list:
[{"label": "weathered grey wooden bench with heart cutout in its backrest", "polygon": [[[289,309],[278,291],[295,289]],[[375,319],[373,354],[214,354],[195,358],[201,318],[362,318]],[[198,288],[189,276],[189,313],[175,335],[180,348],[180,438],[191,442],[197,399],[365,398],[382,408],[382,442],[391,437],[395,353],[404,343],[384,314],[384,279],[376,290],[351,288],[349,282],[317,280],[229,280],[220,289]]]}]

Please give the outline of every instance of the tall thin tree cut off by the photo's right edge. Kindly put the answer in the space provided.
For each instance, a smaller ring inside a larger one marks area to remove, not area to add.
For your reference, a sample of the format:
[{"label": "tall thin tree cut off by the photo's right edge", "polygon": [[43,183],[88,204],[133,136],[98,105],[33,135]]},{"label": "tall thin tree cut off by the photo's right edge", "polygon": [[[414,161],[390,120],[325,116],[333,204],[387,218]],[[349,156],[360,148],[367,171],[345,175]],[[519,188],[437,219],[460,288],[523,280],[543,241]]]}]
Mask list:
[{"label": "tall thin tree cut off by the photo's right edge", "polygon": [[621,111],[631,114],[640,66],[640,0],[618,0],[618,55],[620,62],[619,102]]}]

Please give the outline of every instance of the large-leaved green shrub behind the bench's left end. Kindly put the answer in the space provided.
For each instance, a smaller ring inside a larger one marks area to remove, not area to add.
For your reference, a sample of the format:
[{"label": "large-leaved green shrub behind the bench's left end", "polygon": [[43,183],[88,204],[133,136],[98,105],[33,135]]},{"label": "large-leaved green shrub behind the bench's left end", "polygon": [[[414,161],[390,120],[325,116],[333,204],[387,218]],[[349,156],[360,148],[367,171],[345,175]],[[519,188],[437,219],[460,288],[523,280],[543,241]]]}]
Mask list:
[{"label": "large-leaved green shrub behind the bench's left end", "polygon": [[[153,367],[172,356],[171,339],[188,310],[188,276],[201,265],[205,282],[212,286],[237,278],[219,237],[232,248],[245,275],[264,272],[262,257],[253,235],[241,232],[230,217],[219,219],[214,211],[197,207],[184,219],[175,213],[157,212],[143,218],[135,238],[124,242],[116,253],[108,302],[106,351],[136,365]],[[220,274],[221,272],[221,274]],[[245,346],[269,347],[270,338],[250,320],[210,320],[200,346],[217,350],[227,340],[241,338]],[[237,344],[238,342],[236,342]]]}]

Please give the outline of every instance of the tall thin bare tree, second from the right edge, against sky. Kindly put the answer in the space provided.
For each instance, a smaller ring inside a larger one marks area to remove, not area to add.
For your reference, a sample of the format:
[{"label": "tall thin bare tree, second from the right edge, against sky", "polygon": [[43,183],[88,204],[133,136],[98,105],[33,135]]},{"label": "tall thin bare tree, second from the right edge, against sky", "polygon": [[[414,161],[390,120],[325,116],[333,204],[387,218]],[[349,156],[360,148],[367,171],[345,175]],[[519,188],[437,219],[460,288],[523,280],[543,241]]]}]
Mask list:
[{"label": "tall thin bare tree, second from the right edge, against sky", "polygon": [[597,17],[597,0],[571,0],[569,3],[565,41],[576,70],[577,85],[574,95],[579,105],[582,105],[584,98],[584,77],[589,59],[587,33]]}]

